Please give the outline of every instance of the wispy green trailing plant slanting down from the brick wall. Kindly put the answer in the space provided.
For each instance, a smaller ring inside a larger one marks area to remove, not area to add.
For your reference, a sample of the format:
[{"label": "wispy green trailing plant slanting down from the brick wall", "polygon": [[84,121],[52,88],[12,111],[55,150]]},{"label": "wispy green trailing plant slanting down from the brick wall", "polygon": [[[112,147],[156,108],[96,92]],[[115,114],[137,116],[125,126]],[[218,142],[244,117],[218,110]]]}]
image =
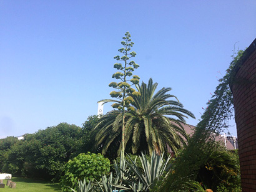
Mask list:
[{"label": "wispy green trailing plant slanting down from the brick wall", "polygon": [[242,51],[231,62],[227,74],[220,79],[208,107],[202,115],[202,120],[197,124],[195,133],[189,140],[188,145],[181,151],[175,160],[175,173],[169,174],[167,179],[159,184],[160,191],[189,190],[189,183],[194,181],[199,173],[200,167],[205,165],[209,157],[214,153],[216,142],[212,133],[219,132],[227,127],[227,120],[233,115],[233,97],[229,89],[230,72]]}]

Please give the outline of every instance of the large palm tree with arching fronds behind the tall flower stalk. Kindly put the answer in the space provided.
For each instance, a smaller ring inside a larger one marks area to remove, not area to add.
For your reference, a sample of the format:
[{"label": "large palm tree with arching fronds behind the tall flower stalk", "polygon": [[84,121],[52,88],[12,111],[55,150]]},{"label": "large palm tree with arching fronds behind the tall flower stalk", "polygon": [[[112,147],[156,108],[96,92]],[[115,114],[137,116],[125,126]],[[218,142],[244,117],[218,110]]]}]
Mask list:
[{"label": "large palm tree with arching fronds behind the tall flower stalk", "polygon": [[[186,144],[187,134],[182,123],[185,123],[185,118],[195,117],[183,108],[177,97],[167,94],[171,88],[162,88],[154,94],[157,85],[149,79],[148,84],[142,82],[136,86],[140,95],[130,94],[124,132],[127,152],[149,151],[151,154],[155,150],[167,153],[169,146],[176,153]],[[121,125],[122,113],[119,110],[112,110],[100,118],[95,128],[95,148],[101,148],[105,154],[109,146],[118,145]]]}]

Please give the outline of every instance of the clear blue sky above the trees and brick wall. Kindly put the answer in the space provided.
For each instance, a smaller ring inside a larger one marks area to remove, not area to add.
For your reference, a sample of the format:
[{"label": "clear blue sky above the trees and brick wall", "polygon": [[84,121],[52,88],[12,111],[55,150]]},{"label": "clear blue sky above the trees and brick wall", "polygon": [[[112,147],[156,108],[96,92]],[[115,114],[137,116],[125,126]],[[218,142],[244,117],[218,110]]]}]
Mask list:
[{"label": "clear blue sky above the trees and brick wall", "polygon": [[245,49],[256,37],[256,1],[1,0],[0,138],[96,115],[126,31],[134,74],[172,87],[199,119],[235,42]]}]

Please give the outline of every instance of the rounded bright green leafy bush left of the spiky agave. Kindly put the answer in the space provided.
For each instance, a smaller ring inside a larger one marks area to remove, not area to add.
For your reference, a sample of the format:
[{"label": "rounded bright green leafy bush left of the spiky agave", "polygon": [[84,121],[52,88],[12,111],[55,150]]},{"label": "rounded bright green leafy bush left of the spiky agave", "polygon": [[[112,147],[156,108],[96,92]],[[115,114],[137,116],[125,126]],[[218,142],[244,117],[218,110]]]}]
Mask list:
[{"label": "rounded bright green leafy bush left of the spiky agave", "polygon": [[110,161],[101,154],[88,152],[81,153],[69,160],[64,167],[64,176],[61,177],[62,190],[69,191],[67,187],[75,188],[79,180],[86,182],[100,180],[102,175],[110,171]]}]

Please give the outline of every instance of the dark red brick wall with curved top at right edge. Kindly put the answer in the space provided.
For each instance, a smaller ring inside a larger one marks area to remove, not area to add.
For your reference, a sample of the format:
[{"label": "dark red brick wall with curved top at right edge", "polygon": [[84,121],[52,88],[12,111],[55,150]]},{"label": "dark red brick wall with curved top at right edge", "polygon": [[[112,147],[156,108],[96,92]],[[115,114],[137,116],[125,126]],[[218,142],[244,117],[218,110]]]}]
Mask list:
[{"label": "dark red brick wall with curved top at right edge", "polygon": [[[255,45],[253,45],[255,48]],[[244,60],[232,83],[243,191],[256,191],[256,50]]]}]

